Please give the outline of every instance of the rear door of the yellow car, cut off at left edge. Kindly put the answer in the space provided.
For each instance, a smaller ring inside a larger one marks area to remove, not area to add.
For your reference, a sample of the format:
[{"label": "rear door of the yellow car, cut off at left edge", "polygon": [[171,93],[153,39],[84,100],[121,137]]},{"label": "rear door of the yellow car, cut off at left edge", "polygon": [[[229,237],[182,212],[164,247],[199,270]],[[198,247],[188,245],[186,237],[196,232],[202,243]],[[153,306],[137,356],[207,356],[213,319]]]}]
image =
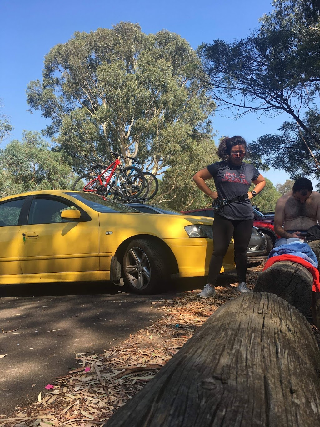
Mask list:
[{"label": "rear door of the yellow car, cut off at left edge", "polygon": [[0,276],[22,274],[18,236],[19,217],[25,200],[20,197],[0,203]]}]

